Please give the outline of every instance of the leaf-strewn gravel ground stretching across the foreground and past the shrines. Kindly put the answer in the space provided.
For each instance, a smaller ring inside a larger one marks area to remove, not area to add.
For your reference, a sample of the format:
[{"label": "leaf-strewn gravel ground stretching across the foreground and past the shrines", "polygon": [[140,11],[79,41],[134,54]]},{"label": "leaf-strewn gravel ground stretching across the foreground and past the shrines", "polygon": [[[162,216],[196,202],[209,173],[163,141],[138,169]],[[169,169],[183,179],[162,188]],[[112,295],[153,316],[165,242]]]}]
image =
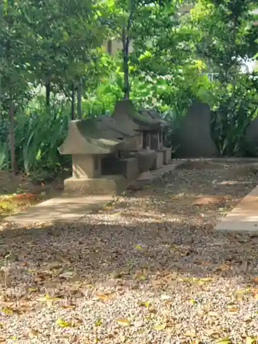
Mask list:
[{"label": "leaf-strewn gravel ground stretching across the foreground and past the shrines", "polygon": [[213,231],[257,184],[235,167],[185,164],[76,224],[3,224],[0,343],[256,343],[258,234]]}]

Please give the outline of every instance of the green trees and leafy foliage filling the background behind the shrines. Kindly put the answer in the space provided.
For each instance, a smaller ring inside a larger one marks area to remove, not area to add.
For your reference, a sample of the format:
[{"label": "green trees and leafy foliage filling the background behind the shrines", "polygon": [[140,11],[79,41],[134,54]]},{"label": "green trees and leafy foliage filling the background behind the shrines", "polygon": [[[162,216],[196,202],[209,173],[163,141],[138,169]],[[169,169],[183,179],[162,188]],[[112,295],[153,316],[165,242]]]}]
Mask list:
[{"label": "green trees and leafy foliage filling the background behind the shrines", "polygon": [[[0,168],[10,166],[13,151],[10,109],[18,169],[44,178],[68,166],[57,147],[71,118],[69,102],[75,109],[77,101],[78,118],[99,116],[113,111],[129,91],[136,105],[164,112],[171,135],[194,100],[208,103],[219,151],[244,155],[258,87],[255,77],[239,71],[241,59],[258,51],[258,27],[250,25],[255,2],[198,0],[184,14],[180,6],[187,3],[3,1]],[[122,41],[119,60],[101,48],[107,39]],[[217,72],[217,80],[209,80],[207,72]],[[34,96],[39,85],[50,90],[47,106],[45,95]]]}]

